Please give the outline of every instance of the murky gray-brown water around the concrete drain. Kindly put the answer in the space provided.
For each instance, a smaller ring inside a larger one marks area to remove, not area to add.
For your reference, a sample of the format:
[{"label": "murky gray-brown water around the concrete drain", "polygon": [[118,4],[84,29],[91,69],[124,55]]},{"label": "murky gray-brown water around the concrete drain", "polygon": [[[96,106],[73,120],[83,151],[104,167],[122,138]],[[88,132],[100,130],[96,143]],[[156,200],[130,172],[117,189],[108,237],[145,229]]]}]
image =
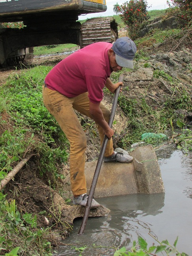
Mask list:
[{"label": "murky gray-brown water around the concrete drain", "polygon": [[72,248],[86,246],[82,256],[108,256],[114,247],[132,247],[138,235],[148,245],[158,245],[168,239],[173,245],[177,236],[177,249],[192,255],[192,159],[175,147],[164,147],[156,152],[165,193],[133,194],[99,198],[98,202],[111,210],[110,215],[89,218],[85,233],[78,235],[82,219],[74,221],[71,236],[59,247],[57,256],[76,256]]}]

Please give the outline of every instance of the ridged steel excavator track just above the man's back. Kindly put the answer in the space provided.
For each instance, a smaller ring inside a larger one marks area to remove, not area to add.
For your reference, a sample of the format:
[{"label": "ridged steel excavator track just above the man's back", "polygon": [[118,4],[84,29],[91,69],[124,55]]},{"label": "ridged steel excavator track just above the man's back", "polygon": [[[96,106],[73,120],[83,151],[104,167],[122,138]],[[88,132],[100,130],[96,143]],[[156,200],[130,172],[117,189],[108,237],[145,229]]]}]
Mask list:
[{"label": "ridged steel excavator track just above the man's back", "polygon": [[106,18],[93,18],[88,19],[81,25],[81,45],[83,48],[96,42],[109,42],[113,43],[118,38],[118,23],[115,19]]}]

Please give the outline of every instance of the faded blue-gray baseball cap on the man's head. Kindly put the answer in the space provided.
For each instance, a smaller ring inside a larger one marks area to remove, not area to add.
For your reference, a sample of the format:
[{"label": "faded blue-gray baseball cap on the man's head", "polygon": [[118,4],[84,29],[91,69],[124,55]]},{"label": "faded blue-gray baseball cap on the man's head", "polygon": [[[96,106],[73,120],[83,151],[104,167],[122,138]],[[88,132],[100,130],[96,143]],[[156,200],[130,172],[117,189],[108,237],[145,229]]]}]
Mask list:
[{"label": "faded blue-gray baseball cap on the man's head", "polygon": [[134,68],[133,58],[137,51],[134,41],[126,36],[118,38],[111,48],[115,52],[116,62],[119,66]]}]

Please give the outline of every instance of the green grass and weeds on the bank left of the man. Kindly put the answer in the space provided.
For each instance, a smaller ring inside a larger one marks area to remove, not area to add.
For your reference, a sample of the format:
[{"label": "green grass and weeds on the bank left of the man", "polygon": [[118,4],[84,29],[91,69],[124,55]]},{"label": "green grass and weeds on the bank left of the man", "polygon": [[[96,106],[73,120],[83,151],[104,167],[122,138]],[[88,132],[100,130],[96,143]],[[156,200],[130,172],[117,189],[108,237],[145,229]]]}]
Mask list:
[{"label": "green grass and weeds on the bank left of the man", "polygon": [[[40,175],[49,171],[56,178],[55,160],[65,162],[67,159],[68,141],[42,101],[43,81],[51,68],[38,66],[23,70],[0,87],[1,101],[6,102],[13,122],[12,130],[6,130],[0,137],[0,169],[5,172],[23,158],[27,148],[43,155],[39,162]],[[0,119],[0,122],[3,121]]]}]

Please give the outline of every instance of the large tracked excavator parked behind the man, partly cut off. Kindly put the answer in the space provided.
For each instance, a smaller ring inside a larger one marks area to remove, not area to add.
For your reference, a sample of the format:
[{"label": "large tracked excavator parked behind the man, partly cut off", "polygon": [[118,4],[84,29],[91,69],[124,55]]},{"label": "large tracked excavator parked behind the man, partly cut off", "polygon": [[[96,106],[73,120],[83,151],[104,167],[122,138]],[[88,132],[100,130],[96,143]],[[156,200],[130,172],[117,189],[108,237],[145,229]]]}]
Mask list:
[{"label": "large tracked excavator parked behind the man, partly cut off", "polygon": [[0,67],[33,58],[33,47],[73,43],[81,48],[118,38],[118,24],[110,17],[80,15],[107,10],[105,0],[0,0],[0,23],[23,22],[23,28],[0,28]]}]

